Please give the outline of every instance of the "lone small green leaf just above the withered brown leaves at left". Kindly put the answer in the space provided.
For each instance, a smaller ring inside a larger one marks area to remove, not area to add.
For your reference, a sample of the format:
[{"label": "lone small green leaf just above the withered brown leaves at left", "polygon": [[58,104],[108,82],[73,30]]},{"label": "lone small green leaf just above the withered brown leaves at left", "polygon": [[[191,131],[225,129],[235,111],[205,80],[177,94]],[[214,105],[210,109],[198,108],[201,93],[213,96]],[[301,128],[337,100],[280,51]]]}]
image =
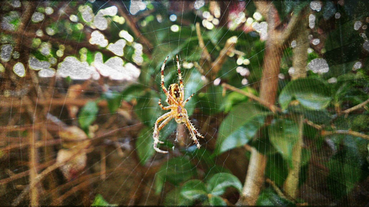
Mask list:
[{"label": "lone small green leaf just above the withered brown leaves at left", "polygon": [[78,115],[78,123],[84,131],[87,132],[89,126],[96,120],[96,114],[98,111],[99,108],[94,101],[89,101],[85,106],[83,106]]}]

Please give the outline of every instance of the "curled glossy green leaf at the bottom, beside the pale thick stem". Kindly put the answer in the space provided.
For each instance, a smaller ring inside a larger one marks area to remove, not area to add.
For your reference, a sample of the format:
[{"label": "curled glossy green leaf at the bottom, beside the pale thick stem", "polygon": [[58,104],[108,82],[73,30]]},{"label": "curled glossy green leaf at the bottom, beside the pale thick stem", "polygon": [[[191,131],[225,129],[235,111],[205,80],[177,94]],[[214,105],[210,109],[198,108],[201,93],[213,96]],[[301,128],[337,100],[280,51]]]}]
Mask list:
[{"label": "curled glossy green leaf at the bottom, beside the pale thick stem", "polygon": [[230,173],[217,173],[207,182],[207,191],[215,196],[222,195],[227,187],[234,187],[241,192],[242,184],[239,179]]}]

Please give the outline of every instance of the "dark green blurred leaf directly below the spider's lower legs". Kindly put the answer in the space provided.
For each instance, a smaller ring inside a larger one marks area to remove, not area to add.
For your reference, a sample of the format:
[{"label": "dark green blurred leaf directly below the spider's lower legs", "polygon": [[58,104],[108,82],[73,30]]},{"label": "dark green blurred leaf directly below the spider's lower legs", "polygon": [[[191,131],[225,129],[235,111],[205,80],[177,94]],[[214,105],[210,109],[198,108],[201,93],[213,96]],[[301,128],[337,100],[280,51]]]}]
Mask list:
[{"label": "dark green blurred leaf directly below the spider's lower legs", "polygon": [[171,158],[155,174],[156,193],[161,192],[165,181],[173,185],[178,185],[181,182],[191,179],[196,174],[196,168],[190,163],[187,157]]}]

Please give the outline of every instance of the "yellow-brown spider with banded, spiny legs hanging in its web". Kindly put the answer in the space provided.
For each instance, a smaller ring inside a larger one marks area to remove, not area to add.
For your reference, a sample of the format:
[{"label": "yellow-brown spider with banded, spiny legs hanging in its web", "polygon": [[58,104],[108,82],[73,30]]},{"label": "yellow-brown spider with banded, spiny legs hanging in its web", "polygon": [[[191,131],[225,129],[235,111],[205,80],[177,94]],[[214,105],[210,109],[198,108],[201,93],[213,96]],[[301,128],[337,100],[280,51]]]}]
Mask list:
[{"label": "yellow-brown spider with banded, spiny legs hanging in its web", "polygon": [[[181,69],[179,67],[179,61],[178,61],[178,55],[177,57],[177,68],[178,68],[178,79],[179,79],[179,85],[176,83],[173,83],[169,86],[168,90],[164,87],[164,67],[166,60],[168,60],[168,57],[164,60],[164,63],[161,67],[161,85],[162,89],[166,95],[166,102],[169,104],[169,106],[163,106],[161,104],[161,99],[159,99],[158,104],[163,110],[170,110],[170,112],[166,112],[162,116],[160,116],[156,122],[154,127],[154,149],[157,152],[160,153],[168,153],[168,151],[160,150],[158,147],[158,143],[163,144],[164,142],[159,141],[159,131],[163,129],[165,124],[168,124],[171,119],[175,119],[177,123],[184,123],[186,124],[188,130],[190,131],[190,135],[192,137],[192,140],[196,144],[197,148],[200,148],[200,143],[196,138],[196,135],[198,137],[204,138],[192,125],[192,123],[189,120],[189,117],[187,115],[187,110],[184,108],[184,105],[192,98],[193,94],[190,95],[186,100],[184,100],[184,88],[183,88],[183,81],[181,76]],[[158,124],[162,122],[159,126]],[[196,134],[196,135],[195,135]]]}]

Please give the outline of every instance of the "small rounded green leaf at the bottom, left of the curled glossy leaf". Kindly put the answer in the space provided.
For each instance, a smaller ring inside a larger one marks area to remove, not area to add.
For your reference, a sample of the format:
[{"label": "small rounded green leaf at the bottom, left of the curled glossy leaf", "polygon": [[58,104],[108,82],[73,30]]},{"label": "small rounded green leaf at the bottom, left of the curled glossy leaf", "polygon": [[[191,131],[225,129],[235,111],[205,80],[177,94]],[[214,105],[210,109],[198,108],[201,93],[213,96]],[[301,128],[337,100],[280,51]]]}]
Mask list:
[{"label": "small rounded green leaf at the bottom, left of the curled glossy leaf", "polygon": [[185,182],[180,193],[189,200],[204,200],[207,196],[205,184],[197,179]]}]

